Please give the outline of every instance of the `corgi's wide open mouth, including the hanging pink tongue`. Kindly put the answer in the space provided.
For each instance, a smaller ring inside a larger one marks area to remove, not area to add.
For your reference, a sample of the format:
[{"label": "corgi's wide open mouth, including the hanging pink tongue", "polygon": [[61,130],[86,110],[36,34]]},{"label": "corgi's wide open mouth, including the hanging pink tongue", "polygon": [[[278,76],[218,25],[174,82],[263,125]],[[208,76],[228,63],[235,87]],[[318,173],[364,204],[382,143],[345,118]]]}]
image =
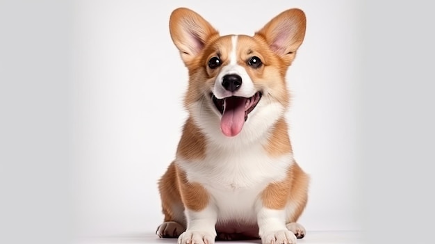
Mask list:
[{"label": "corgi's wide open mouth, including the hanging pink tongue", "polygon": [[236,136],[243,128],[249,113],[254,110],[261,99],[261,92],[256,92],[252,97],[225,97],[217,99],[211,94],[213,104],[222,114],[220,129],[225,136]]}]

